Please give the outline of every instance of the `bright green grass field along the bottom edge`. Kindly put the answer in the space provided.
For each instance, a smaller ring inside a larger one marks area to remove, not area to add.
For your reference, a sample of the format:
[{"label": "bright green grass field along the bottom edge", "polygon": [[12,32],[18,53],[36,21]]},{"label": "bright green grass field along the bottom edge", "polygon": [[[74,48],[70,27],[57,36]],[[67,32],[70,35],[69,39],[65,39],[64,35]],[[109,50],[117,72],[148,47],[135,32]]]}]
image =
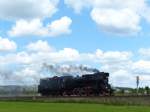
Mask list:
[{"label": "bright green grass field along the bottom edge", "polygon": [[150,107],[79,103],[0,102],[0,112],[150,112]]}]

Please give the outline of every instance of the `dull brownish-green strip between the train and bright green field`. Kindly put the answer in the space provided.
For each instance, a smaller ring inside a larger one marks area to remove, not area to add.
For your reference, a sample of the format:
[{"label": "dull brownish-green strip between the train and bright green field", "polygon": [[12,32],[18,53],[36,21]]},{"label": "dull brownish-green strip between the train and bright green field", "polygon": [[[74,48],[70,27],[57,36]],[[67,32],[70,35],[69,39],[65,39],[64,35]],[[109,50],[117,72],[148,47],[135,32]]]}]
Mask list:
[{"label": "dull brownish-green strip between the train and bright green field", "polygon": [[147,105],[150,96],[0,96],[0,101],[51,102],[51,103],[96,103],[108,105]]}]

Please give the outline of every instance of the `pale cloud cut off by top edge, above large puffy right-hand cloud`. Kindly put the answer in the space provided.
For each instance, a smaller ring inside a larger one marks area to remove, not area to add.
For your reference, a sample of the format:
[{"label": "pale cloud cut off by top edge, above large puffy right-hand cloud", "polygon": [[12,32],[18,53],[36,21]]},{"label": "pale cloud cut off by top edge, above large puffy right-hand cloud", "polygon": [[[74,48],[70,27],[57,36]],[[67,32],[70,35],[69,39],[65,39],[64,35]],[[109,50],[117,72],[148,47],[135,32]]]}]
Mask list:
[{"label": "pale cloud cut off by top edge, above large puffy right-hand cloud", "polygon": [[147,7],[145,0],[65,0],[65,4],[72,7],[76,12],[81,12],[84,8],[129,8],[135,12],[144,11]]}]

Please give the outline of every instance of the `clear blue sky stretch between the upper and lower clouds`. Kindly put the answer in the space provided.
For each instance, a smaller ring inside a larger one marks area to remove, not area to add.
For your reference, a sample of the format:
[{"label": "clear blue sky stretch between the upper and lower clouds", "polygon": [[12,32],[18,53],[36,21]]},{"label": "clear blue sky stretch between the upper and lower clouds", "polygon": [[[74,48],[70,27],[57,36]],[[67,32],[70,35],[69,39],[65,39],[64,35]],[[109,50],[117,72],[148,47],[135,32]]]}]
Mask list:
[{"label": "clear blue sky stretch between the upper and lower clouds", "polygon": [[[18,41],[18,45],[25,45],[31,41],[47,40],[49,44],[55,46],[58,49],[64,47],[71,47],[78,49],[81,52],[92,52],[95,49],[108,50],[131,50],[136,52],[141,47],[149,47],[150,33],[149,23],[141,21],[142,30],[135,35],[117,35],[110,32],[105,32],[101,28],[97,27],[97,24],[90,17],[89,9],[85,9],[82,13],[76,14],[73,9],[67,7],[63,1],[58,5],[58,12],[51,18],[44,20],[45,24],[53,20],[59,19],[62,16],[68,16],[72,19],[71,25],[72,33],[69,35],[60,35],[53,38],[40,38],[33,36],[29,38],[12,38]],[[1,35],[7,36],[5,33],[8,31],[12,22],[1,21]],[[14,23],[15,24],[15,23]],[[146,40],[146,41],[145,41]],[[84,43],[84,44],[83,44]]]}]

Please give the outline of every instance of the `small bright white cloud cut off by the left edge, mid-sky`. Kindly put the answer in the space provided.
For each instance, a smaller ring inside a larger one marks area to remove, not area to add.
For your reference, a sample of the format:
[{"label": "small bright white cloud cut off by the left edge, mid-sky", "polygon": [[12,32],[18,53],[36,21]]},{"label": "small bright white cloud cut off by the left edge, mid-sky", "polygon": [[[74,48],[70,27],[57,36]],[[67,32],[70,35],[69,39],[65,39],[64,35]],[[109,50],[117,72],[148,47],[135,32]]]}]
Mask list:
[{"label": "small bright white cloud cut off by the left edge, mid-sky", "polygon": [[4,51],[14,51],[17,45],[14,41],[10,41],[7,38],[0,37],[0,52]]}]

